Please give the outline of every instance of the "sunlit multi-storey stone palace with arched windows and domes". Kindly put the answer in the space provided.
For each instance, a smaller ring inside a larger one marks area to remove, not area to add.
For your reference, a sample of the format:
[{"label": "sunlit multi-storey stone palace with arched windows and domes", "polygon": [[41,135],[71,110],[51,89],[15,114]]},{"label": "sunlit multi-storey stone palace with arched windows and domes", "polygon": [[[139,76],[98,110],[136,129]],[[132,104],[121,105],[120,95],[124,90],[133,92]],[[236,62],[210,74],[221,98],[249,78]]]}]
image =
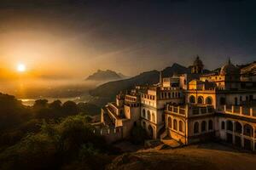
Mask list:
[{"label": "sunlit multi-storey stone palace with arched windows and domes", "polygon": [[102,108],[101,131],[109,142],[128,139],[131,128],[142,126],[152,139],[175,139],[180,144],[218,139],[256,150],[256,80],[229,59],[221,69],[204,73],[197,56],[191,72],[162,77],[150,86],[116,96]]}]

